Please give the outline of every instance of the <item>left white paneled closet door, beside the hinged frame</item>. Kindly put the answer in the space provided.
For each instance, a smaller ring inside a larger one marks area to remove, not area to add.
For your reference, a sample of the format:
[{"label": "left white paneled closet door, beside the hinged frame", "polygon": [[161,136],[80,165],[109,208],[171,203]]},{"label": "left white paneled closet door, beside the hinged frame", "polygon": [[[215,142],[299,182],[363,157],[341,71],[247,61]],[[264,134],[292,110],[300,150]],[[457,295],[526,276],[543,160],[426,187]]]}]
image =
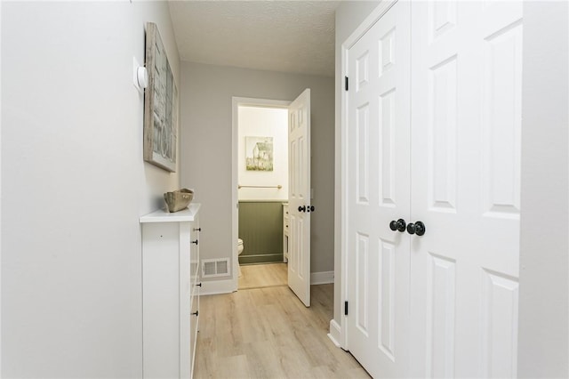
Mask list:
[{"label": "left white paneled closet door, beside the hinged frame", "polygon": [[405,376],[409,327],[410,3],[347,52],[348,349],[373,377]]}]

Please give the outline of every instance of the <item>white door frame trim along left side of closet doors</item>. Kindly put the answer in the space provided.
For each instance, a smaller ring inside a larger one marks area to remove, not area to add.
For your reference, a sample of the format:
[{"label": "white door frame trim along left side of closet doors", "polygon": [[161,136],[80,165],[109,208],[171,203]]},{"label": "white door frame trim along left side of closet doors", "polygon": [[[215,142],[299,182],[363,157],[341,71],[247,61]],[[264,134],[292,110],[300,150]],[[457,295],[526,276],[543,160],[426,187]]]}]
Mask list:
[{"label": "white door frame trim along left side of closet doors", "polygon": [[[384,0],[365,18],[364,21],[354,30],[354,32],[341,44],[341,84],[344,83],[344,77],[348,77],[348,52],[357,41],[365,35],[365,33],[373,27],[373,25],[396,4],[397,0]],[[353,82],[351,83],[353,85]],[[343,87],[343,85],[342,85]],[[343,311],[343,304],[348,299],[348,225],[346,223],[348,210],[346,204],[348,200],[348,99],[345,88],[341,89],[341,302],[334,304],[341,308],[341,325],[340,325],[340,346],[344,350],[349,351],[348,346],[348,320]]]}]

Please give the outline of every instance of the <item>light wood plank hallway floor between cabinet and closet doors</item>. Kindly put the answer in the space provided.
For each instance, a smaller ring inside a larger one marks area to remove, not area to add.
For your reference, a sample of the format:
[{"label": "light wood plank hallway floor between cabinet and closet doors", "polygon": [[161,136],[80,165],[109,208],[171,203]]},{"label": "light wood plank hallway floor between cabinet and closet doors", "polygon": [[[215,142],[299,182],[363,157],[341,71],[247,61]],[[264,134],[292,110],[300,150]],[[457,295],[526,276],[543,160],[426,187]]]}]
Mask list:
[{"label": "light wood plank hallway floor between cabinet and closet doors", "polygon": [[310,308],[288,286],[200,297],[194,377],[369,378],[327,336],[333,285],[311,296]]}]

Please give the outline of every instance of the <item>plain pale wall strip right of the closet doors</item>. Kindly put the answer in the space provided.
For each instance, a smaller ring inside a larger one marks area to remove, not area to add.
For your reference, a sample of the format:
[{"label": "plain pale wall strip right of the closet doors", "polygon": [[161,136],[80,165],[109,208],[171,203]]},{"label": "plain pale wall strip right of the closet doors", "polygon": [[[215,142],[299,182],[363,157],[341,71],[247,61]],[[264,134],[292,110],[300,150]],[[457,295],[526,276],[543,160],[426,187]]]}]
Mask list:
[{"label": "plain pale wall strip right of the closet doors", "polygon": [[524,4],[520,378],[569,377],[568,26],[567,2]]}]

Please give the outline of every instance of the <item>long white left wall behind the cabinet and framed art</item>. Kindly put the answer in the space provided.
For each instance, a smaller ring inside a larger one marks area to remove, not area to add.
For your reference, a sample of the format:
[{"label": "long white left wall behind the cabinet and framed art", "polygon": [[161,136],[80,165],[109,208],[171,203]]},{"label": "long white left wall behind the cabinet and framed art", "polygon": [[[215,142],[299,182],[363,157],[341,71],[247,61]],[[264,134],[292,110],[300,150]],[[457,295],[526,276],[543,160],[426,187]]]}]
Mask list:
[{"label": "long white left wall behind the cabinet and framed art", "polygon": [[179,83],[167,3],[2,2],[2,377],[142,376],[146,21]]}]

